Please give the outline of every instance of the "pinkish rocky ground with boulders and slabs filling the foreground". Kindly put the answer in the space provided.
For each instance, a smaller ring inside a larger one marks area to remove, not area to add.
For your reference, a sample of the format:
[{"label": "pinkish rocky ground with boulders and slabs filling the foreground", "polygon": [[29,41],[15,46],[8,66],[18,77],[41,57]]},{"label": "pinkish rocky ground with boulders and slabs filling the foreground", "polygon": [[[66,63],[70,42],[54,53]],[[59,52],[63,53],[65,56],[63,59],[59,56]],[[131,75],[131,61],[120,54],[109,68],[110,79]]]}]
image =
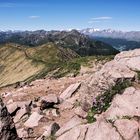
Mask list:
[{"label": "pinkish rocky ground with boulders and slabs filling the foreground", "polygon": [[137,49],[94,74],[1,90],[0,139],[140,140],[139,81]]}]

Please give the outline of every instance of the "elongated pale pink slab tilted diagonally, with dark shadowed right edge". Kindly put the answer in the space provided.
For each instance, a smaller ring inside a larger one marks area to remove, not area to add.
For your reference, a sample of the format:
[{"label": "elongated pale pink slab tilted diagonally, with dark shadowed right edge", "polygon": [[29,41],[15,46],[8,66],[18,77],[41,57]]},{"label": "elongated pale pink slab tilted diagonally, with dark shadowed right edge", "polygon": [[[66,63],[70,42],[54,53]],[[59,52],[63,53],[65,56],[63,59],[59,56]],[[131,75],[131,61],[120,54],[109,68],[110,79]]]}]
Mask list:
[{"label": "elongated pale pink slab tilted diagonally, with dark shadowed right edge", "polygon": [[60,98],[63,100],[70,98],[76,92],[76,90],[78,90],[80,85],[81,83],[70,85],[63,93],[61,93]]}]

